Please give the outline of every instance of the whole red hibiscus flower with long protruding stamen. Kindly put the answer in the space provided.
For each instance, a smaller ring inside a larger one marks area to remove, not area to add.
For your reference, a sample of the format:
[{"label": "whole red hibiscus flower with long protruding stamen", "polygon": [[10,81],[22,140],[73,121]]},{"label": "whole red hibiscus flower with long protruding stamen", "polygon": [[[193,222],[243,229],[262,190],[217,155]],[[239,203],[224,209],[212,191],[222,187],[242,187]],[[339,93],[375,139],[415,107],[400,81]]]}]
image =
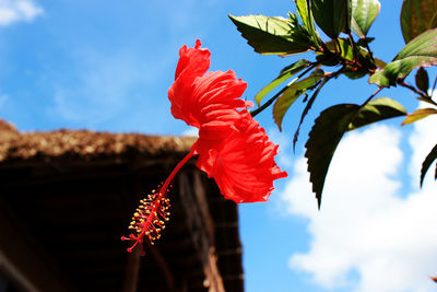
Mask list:
[{"label": "whole red hibiscus flower with long protruding stamen", "polygon": [[200,40],[194,48],[181,47],[179,55],[168,90],[172,114],[199,128],[199,139],[158,190],[141,200],[130,225],[134,233],[121,237],[134,242],[129,252],[138,244],[142,249],[144,236],[152,244],[160,237],[169,214],[168,187],[193,155],[199,155],[197,166],[215,179],[222,195],[237,203],[268,200],[273,180],[287,176],[274,162],[277,145],[246,109],[252,103],[239,98],[246,83],[231,70],[206,72],[211,54]]}]

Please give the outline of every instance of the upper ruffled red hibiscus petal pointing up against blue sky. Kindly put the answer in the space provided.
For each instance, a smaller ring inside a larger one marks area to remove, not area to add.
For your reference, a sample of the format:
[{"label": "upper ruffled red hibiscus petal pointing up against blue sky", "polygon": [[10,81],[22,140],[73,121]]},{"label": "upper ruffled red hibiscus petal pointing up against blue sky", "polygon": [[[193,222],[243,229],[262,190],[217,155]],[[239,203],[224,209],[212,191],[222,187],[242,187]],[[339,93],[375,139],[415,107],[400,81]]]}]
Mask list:
[{"label": "upper ruffled red hibiscus petal pointing up against blue sky", "polygon": [[231,125],[237,108],[252,106],[252,103],[239,98],[247,84],[237,80],[233,71],[204,74],[210,67],[210,51],[201,49],[200,42],[194,48],[181,47],[179,54],[176,80],[168,90],[175,118],[200,128],[221,116],[222,121],[228,118]]}]

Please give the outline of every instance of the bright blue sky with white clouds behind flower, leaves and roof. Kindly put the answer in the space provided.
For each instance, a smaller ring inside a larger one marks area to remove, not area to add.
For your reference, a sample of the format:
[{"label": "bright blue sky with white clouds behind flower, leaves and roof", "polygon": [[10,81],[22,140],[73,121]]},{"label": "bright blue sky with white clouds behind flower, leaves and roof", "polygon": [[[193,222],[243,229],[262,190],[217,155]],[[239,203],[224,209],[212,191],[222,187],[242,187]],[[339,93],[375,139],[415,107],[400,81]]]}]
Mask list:
[{"label": "bright blue sky with white clouds behind flower, leaves and roof", "polygon": [[[376,55],[389,61],[404,45],[402,1],[380,2],[369,35]],[[0,117],[20,130],[185,133],[167,100],[184,44],[200,38],[212,52],[211,70],[234,70],[248,82],[248,100],[297,59],[257,55],[227,17],[294,11],[290,0],[271,3],[0,0]],[[421,159],[437,142],[435,119],[403,128],[395,119],[349,135],[320,212],[310,194],[302,156],[311,121],[323,107],[359,103],[375,90],[366,79],[345,78],[323,87],[295,154],[290,143],[303,105],[286,115],[282,133],[271,109],[257,116],[281,144],[277,162],[290,177],[269,202],[240,206],[246,291],[435,291],[427,277],[437,275],[437,215],[429,208],[436,183],[429,175],[417,189]],[[380,96],[417,106],[402,89]]]}]

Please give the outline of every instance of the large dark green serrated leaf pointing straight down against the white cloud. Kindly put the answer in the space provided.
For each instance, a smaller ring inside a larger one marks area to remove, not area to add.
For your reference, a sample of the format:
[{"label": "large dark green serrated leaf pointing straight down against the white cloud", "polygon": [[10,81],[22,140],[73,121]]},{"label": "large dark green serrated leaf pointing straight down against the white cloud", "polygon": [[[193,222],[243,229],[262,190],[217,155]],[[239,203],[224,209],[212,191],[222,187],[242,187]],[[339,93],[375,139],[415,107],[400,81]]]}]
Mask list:
[{"label": "large dark green serrated leaf pointing straight down against the white cloud", "polygon": [[316,119],[305,144],[309,180],[320,209],[324,179],[335,149],[359,106],[339,104],[324,109]]}]

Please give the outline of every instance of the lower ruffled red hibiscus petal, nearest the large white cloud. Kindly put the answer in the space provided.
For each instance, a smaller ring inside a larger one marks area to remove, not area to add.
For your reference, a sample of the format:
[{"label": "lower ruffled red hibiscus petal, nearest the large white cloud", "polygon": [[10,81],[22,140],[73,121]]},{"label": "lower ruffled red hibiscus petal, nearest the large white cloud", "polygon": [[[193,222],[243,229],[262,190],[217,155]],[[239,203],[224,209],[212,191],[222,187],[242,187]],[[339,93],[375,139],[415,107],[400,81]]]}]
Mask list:
[{"label": "lower ruffled red hibiscus petal, nearest the large white cloud", "polygon": [[220,148],[202,149],[204,144],[199,139],[197,165],[214,177],[227,199],[237,203],[265,201],[273,190],[273,180],[287,174],[274,162],[277,147],[269,140],[264,129],[247,110],[239,114],[235,127],[222,132],[225,139]]}]

